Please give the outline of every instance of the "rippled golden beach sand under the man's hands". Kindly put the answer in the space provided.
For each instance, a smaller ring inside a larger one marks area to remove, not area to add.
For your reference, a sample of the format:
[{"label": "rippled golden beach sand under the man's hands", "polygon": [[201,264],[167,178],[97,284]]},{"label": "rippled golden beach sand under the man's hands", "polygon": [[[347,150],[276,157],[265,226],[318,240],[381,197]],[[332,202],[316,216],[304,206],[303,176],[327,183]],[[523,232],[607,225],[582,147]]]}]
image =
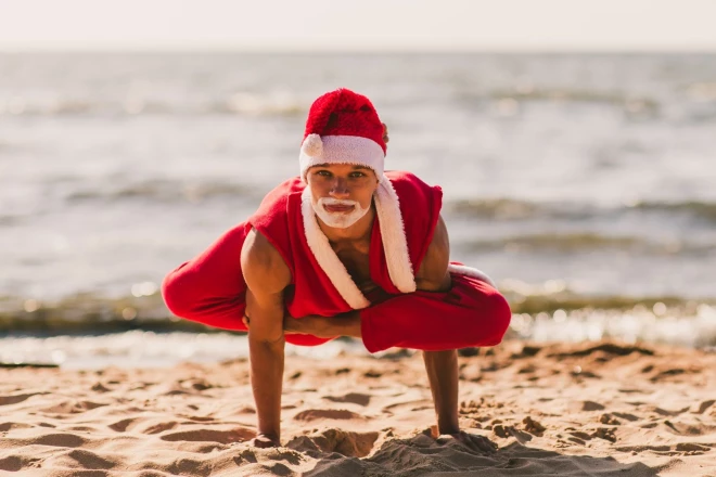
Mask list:
[{"label": "rippled golden beach sand under the man's hands", "polygon": [[509,341],[460,362],[461,425],[491,454],[433,438],[419,354],[290,358],[278,449],[246,443],[245,360],[0,370],[0,475],[716,476],[716,353]]}]

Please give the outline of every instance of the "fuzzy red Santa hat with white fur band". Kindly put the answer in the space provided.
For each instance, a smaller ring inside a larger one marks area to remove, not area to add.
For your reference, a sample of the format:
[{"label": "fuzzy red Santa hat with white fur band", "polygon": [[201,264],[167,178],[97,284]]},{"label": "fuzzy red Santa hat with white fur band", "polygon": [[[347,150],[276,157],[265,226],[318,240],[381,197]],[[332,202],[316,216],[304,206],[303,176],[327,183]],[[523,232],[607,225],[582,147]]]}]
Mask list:
[{"label": "fuzzy red Santa hat with white fur band", "polygon": [[301,177],[319,164],[357,164],[383,178],[386,145],[375,107],[362,94],[341,88],[314,102],[301,146]]}]

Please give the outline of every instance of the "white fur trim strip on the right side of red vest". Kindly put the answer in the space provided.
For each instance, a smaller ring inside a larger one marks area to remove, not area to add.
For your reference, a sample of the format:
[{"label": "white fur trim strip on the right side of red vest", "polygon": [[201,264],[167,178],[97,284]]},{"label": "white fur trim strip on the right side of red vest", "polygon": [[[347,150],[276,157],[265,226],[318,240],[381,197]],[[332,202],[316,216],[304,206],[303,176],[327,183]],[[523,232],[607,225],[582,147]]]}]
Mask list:
[{"label": "white fur trim strip on the right side of red vest", "polygon": [[415,276],[412,273],[412,263],[408,253],[400,202],[387,177],[381,178],[374,197],[391,281],[400,292],[412,293],[417,289]]}]

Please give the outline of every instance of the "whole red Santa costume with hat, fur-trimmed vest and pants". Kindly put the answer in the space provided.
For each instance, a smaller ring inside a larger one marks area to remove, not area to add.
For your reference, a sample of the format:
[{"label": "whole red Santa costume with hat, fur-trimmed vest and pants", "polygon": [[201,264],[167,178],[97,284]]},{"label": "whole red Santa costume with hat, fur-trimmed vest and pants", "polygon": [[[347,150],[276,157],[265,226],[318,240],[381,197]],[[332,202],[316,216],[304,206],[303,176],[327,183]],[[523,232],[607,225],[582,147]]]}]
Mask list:
[{"label": "whole red Santa costume with hat, fur-trimmed vest and pants", "polygon": [[[367,98],[346,89],[319,98],[306,125],[301,178],[280,184],[247,221],[171,271],[162,287],[167,307],[188,320],[246,331],[241,248],[254,228],[291,271],[284,302],[294,318],[360,310],[363,344],[371,352],[394,346],[433,351],[499,344],[510,308],[481,271],[450,263],[450,291],[417,289],[415,273],[431,244],[443,194],[409,172],[385,173],[385,151],[383,126]],[[378,286],[368,296],[318,224],[305,182],[308,168],[318,164],[363,165],[379,178],[369,248],[370,278]],[[286,335],[286,341],[315,346],[328,339]]]}]

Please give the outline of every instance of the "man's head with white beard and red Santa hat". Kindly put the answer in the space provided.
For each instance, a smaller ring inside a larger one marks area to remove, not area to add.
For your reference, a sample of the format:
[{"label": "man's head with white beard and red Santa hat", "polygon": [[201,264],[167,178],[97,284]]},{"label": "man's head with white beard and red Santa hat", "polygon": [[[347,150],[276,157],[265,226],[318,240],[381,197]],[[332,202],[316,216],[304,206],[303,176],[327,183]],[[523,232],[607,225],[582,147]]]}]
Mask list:
[{"label": "man's head with white beard and red Santa hat", "polygon": [[383,178],[387,130],[368,98],[338,89],[316,100],[301,147],[301,175],[316,215],[345,229],[370,210]]}]

